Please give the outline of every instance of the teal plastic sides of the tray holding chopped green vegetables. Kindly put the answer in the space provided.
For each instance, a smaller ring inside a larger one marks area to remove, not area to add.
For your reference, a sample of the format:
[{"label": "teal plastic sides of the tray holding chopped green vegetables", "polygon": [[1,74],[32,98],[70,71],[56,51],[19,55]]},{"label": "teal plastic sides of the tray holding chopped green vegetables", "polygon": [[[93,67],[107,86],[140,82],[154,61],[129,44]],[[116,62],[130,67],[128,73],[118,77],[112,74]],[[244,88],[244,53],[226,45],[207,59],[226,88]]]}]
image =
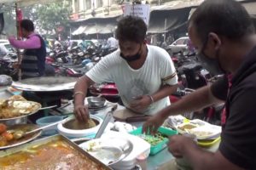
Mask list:
[{"label": "teal plastic sides of the tray holding chopped green vegetables", "polygon": [[[166,127],[159,127],[158,133],[166,135],[166,136],[172,136],[172,135],[177,134],[177,131],[176,130],[172,130],[172,129],[168,129]],[[143,127],[138,127],[136,130],[131,131],[131,134],[136,135],[136,136],[138,136],[140,134],[143,134]],[[160,143],[155,144],[155,145],[151,145],[150,146],[150,154],[149,155],[150,156],[154,156],[155,154],[160,152],[160,150],[165,149],[166,146],[167,146],[166,143],[168,142],[168,140],[169,139],[165,138]]]}]

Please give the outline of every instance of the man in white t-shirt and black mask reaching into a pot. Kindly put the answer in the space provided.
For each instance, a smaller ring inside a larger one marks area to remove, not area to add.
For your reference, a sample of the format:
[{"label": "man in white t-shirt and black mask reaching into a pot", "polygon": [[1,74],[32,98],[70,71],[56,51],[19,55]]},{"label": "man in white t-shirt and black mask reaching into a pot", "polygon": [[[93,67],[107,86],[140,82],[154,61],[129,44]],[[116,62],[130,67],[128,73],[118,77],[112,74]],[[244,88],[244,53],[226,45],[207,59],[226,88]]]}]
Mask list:
[{"label": "man in white t-shirt and black mask reaching into a pot", "polygon": [[146,44],[147,26],[138,17],[119,21],[116,37],[119,49],[108,54],[79,78],[74,88],[74,113],[87,121],[84,106],[87,89],[93,83],[116,83],[125,107],[146,115],[170,105],[168,96],[177,90],[177,74],[172,59],[163,49]]}]

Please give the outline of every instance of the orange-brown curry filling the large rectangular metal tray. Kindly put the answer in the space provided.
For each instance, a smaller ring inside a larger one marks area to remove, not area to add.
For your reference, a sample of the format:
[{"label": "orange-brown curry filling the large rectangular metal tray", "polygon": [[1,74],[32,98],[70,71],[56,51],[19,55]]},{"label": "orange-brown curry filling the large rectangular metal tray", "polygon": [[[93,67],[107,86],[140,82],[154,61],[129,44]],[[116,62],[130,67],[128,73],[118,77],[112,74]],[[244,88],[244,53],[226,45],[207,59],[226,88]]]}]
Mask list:
[{"label": "orange-brown curry filling the large rectangular metal tray", "polygon": [[5,170],[106,169],[62,140],[35,145],[15,154],[0,157],[0,167]]}]

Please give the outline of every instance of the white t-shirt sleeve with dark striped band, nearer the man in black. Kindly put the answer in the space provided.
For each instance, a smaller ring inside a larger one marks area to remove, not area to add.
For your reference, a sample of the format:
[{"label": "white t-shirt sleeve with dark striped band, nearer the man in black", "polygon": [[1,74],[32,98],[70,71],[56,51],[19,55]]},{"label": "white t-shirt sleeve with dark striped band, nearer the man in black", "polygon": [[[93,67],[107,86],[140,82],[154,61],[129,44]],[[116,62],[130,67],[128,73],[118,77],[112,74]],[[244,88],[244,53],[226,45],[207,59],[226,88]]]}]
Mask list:
[{"label": "white t-shirt sleeve with dark striped band, nearer the man in black", "polygon": [[166,50],[161,50],[160,59],[160,77],[163,85],[175,85],[177,84],[177,71],[173,65],[170,55]]}]

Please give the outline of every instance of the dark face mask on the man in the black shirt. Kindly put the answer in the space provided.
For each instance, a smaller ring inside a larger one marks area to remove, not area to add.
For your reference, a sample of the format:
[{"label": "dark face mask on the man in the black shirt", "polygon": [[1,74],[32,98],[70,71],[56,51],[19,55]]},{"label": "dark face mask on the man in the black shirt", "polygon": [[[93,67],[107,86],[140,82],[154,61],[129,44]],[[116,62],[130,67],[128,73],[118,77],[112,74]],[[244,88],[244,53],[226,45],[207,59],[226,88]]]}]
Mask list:
[{"label": "dark face mask on the man in the black shirt", "polygon": [[207,42],[203,45],[203,48],[201,48],[201,51],[197,54],[197,58],[201,61],[201,64],[209,71],[212,76],[218,76],[224,74],[224,70],[221,68],[221,65],[218,61],[218,51],[216,54],[216,59],[211,59],[206,54],[204,54],[204,50],[206,48]]}]

